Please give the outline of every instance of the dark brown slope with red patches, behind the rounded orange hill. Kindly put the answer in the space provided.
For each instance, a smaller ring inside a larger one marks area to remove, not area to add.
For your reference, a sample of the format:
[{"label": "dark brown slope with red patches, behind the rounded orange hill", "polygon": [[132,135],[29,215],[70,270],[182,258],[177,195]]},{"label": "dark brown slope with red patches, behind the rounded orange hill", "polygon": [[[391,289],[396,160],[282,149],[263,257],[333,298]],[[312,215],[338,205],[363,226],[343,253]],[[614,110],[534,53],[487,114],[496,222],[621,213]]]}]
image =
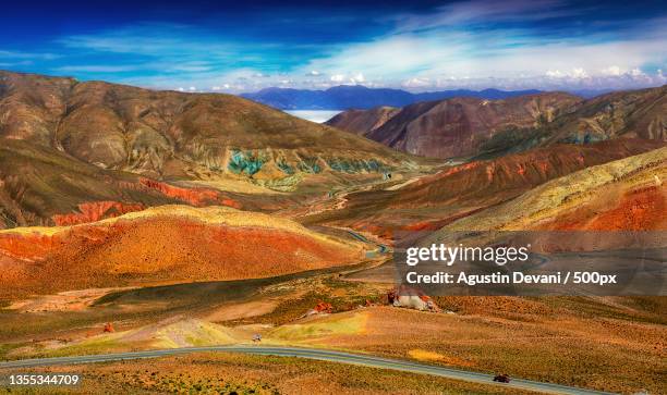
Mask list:
[{"label": "dark brown slope with red patches, behind the rounded orange hill", "polygon": [[168,203],[270,211],[288,198],[175,185],[100,169],[47,146],[0,139],[0,229],[92,222]]}]

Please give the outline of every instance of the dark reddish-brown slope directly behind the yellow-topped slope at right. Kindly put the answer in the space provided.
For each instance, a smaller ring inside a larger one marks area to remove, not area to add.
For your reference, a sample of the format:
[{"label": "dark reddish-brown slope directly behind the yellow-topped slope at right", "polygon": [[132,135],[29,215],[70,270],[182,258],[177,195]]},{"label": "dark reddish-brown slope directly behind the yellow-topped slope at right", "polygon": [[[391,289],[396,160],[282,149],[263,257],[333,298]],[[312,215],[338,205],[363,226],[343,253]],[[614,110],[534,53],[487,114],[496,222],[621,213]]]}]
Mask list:
[{"label": "dark reddish-brown slope directly behind the yellow-topped slope at right", "polygon": [[[397,239],[412,231],[436,231],[477,212],[494,217],[497,205],[513,201],[545,183],[664,146],[656,140],[622,138],[585,146],[560,144],[472,161],[390,188],[349,194],[342,210],[307,221],[329,222]],[[520,207],[517,206],[519,212]],[[480,221],[480,226],[487,222]]]}]

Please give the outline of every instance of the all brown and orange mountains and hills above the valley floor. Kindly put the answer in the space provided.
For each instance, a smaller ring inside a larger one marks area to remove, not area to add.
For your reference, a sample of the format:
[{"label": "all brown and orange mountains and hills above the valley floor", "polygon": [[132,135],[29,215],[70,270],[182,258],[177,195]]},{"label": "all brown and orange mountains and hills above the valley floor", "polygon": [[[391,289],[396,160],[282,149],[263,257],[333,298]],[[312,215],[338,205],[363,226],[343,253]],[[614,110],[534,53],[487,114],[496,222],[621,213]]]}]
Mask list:
[{"label": "all brown and orange mountains and hills above the valley floor", "polygon": [[0,72],[0,299],[354,264],[420,231],[663,230],[666,90],[320,125],[231,95]]}]

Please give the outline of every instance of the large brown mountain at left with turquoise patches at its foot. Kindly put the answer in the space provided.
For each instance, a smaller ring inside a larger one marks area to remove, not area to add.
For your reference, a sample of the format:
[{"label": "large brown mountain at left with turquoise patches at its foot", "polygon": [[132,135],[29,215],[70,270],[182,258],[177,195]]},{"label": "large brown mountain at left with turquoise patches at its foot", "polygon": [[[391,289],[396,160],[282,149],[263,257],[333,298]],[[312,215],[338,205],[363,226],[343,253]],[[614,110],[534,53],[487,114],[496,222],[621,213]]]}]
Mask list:
[{"label": "large brown mountain at left with turquoise patches at its foot", "polygon": [[0,227],[119,215],[120,201],[257,209],[280,197],[216,186],[328,190],[419,161],[231,95],[0,72]]}]

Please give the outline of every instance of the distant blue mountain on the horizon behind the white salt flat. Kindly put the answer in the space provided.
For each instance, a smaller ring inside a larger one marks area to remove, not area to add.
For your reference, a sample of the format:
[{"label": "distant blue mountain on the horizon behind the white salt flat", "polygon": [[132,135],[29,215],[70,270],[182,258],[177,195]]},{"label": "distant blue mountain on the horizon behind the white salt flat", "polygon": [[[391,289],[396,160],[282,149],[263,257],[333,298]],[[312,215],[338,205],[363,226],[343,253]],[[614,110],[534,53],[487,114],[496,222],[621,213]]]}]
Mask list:
[{"label": "distant blue mountain on the horizon behind the white salt flat", "polygon": [[534,89],[514,91],[457,89],[411,94],[401,89],[341,85],[326,90],[266,88],[253,94],[241,94],[241,96],[280,110],[364,110],[383,106],[404,107],[419,101],[442,100],[452,97],[505,99],[537,92],[539,91]]}]

